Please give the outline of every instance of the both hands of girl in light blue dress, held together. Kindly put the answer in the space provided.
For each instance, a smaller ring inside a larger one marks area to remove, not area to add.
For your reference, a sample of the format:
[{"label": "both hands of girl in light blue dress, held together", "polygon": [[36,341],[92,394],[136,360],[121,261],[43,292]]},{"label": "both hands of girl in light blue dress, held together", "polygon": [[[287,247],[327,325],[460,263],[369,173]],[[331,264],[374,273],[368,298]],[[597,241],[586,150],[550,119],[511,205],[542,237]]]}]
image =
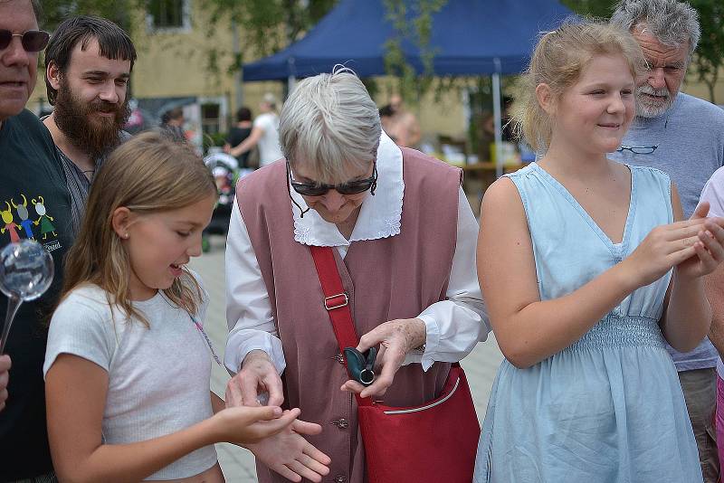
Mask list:
[{"label": "both hands of girl in light blue dress, held together", "polygon": [[[700,204],[689,220],[657,226],[643,239],[623,262],[630,272],[632,290],[653,283],[685,261],[687,263],[681,267],[684,271],[680,269],[680,274],[698,277],[710,273],[720,260],[724,260],[724,219],[706,218],[706,213],[709,213],[709,204]],[[705,253],[709,247],[713,253]]]}]

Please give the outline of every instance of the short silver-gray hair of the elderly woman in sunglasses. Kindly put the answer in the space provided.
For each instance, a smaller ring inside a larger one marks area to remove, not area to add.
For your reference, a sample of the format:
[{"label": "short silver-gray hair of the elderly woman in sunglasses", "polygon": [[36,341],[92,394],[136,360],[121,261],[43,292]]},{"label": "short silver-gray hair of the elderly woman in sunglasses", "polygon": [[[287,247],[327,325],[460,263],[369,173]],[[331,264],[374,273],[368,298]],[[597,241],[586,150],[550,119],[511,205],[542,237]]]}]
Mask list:
[{"label": "short silver-gray hair of the elderly woman in sunglasses", "polygon": [[279,116],[279,143],[291,165],[301,161],[319,183],[348,181],[349,168],[365,170],[376,158],[382,128],[375,101],[354,71],[300,81]]}]

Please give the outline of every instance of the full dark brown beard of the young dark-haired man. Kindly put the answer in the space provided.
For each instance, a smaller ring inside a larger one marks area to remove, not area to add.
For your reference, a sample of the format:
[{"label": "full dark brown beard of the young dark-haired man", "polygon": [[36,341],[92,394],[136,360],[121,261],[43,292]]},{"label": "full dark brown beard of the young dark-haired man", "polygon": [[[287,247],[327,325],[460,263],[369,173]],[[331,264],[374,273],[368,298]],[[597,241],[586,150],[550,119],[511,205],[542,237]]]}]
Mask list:
[{"label": "full dark brown beard of the young dark-haired man", "polygon": [[[113,118],[95,116],[96,112],[112,112]],[[75,147],[87,153],[92,159],[106,156],[120,144],[120,131],[130,116],[128,99],[123,104],[93,99],[88,103],[76,98],[61,78],[61,85],[55,99],[53,118],[61,132]]]}]

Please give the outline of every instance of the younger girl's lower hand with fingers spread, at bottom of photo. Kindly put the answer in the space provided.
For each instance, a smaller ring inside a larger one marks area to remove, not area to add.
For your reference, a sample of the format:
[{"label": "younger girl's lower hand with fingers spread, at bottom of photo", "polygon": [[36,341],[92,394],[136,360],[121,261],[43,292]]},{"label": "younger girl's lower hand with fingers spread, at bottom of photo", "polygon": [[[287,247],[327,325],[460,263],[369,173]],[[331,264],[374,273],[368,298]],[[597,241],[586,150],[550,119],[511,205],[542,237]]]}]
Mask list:
[{"label": "younger girl's lower hand with fingers spread, at bottom of photo", "polygon": [[252,451],[267,468],[284,478],[291,481],[301,481],[301,478],[321,481],[322,477],[329,473],[327,465],[332,460],[301,436],[319,434],[321,431],[319,424],[294,420],[291,426],[283,431],[244,447]]}]

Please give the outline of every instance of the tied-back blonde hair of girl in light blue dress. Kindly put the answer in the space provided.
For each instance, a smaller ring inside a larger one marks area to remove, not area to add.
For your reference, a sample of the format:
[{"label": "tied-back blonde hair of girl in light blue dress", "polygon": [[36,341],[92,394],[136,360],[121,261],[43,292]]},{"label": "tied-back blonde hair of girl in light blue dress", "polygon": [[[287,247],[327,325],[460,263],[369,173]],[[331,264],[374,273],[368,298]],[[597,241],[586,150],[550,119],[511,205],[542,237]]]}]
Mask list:
[{"label": "tied-back blonde hair of girl in light blue dress", "polygon": [[550,145],[553,119],[538,104],[536,88],[547,84],[555,99],[575,84],[588,62],[596,55],[623,55],[635,79],[645,66],[641,47],[631,33],[596,21],[567,22],[542,34],[530,59],[528,71],[519,81],[513,104],[515,132],[534,150]]}]

